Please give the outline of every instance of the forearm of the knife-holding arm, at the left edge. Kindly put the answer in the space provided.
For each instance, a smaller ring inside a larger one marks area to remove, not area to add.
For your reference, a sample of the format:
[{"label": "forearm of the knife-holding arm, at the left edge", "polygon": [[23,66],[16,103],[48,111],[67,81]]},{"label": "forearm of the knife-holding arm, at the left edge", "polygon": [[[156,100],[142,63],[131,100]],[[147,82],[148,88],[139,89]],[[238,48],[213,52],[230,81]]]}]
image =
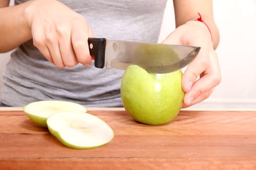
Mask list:
[{"label": "forearm of the knife-holding arm, at the left edge", "polygon": [[29,3],[0,8],[0,52],[11,51],[32,38],[24,16],[24,9]]}]

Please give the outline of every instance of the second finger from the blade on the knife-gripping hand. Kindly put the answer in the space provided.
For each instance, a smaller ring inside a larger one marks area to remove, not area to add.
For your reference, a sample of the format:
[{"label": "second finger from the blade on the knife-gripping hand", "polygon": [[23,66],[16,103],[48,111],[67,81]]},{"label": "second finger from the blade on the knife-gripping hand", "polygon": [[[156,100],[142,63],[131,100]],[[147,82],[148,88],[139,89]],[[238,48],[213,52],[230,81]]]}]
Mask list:
[{"label": "second finger from the blade on the knife-gripping hand", "polygon": [[71,43],[70,31],[67,28],[58,28],[59,35],[59,51],[63,64],[66,67],[76,66],[79,62]]}]

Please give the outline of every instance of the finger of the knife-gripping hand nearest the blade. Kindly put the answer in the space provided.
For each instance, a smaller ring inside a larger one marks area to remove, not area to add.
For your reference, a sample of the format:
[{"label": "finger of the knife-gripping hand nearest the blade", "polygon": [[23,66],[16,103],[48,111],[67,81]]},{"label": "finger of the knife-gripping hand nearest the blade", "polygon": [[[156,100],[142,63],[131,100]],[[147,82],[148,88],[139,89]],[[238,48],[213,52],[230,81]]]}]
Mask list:
[{"label": "finger of the knife-gripping hand nearest the blade", "polygon": [[71,42],[78,62],[84,66],[90,66],[92,57],[88,46],[89,30],[85,30],[84,27],[74,27],[71,31]]}]

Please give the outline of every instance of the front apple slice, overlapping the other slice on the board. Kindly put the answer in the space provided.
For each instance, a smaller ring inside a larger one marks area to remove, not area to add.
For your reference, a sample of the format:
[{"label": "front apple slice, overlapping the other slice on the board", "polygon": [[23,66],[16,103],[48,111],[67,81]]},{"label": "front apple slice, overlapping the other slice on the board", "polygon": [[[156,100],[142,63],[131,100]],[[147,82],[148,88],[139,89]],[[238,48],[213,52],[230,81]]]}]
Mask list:
[{"label": "front apple slice, overlapping the other slice on the board", "polygon": [[59,141],[76,149],[90,149],[109,143],[114,132],[96,116],[83,112],[58,112],[47,119],[50,133]]}]

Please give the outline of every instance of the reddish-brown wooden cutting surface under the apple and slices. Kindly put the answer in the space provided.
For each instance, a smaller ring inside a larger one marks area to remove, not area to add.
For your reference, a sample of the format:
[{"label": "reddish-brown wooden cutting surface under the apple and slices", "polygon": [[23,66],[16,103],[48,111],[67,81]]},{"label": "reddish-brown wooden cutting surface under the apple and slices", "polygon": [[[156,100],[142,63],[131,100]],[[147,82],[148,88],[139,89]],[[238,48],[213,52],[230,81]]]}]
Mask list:
[{"label": "reddish-brown wooden cutting surface under the apple and slices", "polygon": [[0,110],[0,170],[256,170],[256,111],[181,111],[149,126],[123,109],[88,113],[115,137],[96,149],[62,145],[20,109]]}]

